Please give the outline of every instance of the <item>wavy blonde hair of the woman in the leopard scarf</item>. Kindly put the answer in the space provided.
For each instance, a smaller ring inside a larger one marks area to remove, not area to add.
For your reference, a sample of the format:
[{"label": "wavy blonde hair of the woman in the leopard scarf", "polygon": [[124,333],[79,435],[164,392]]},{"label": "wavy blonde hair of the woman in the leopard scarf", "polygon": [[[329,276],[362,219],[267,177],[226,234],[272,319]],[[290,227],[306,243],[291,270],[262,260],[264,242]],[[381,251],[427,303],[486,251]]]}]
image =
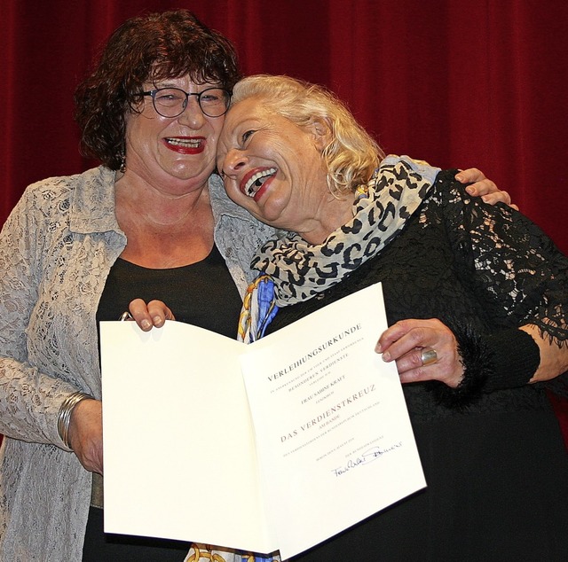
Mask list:
[{"label": "wavy blonde hair of the woman in the leopard scarf", "polygon": [[330,91],[289,76],[255,74],[237,82],[231,105],[247,98],[262,98],[271,111],[298,127],[323,121],[331,140],[322,157],[327,167],[327,185],[335,197],[355,191],[367,183],[384,158],[384,152],[363,129],[345,105]]}]

